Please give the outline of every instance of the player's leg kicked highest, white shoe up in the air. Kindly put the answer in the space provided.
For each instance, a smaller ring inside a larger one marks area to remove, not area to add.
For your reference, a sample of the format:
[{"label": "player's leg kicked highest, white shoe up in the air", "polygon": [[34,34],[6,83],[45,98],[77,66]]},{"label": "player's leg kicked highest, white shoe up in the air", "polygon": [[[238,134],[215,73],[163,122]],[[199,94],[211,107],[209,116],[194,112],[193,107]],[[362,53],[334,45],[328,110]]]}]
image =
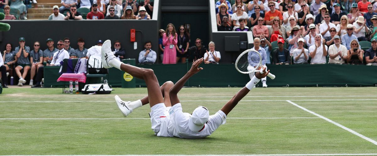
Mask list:
[{"label": "player's leg kicked highest, white shoe up in the air", "polygon": [[124,64],[121,61],[115,59],[113,52],[111,51],[111,41],[106,40],[101,49],[102,55],[102,65],[105,68],[116,67],[117,69],[123,70],[130,75],[143,79],[147,85],[148,89],[148,100],[150,107],[163,103],[163,97],[160,90],[160,86],[158,84],[157,77],[152,69],[144,69],[135,66],[131,66],[129,64]]}]

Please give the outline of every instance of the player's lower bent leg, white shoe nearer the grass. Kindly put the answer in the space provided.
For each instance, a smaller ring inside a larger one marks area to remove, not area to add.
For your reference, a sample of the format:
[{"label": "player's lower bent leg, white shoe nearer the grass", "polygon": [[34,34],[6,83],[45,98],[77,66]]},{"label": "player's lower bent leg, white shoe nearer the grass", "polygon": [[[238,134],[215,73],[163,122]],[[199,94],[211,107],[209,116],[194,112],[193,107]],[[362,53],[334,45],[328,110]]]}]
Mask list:
[{"label": "player's lower bent leg, white shoe nearer the grass", "polygon": [[[160,87],[162,96],[164,97],[164,104],[166,107],[172,106],[172,104],[170,103],[169,90],[170,88],[172,88],[173,85],[174,84],[172,81],[167,81],[166,83],[162,84],[162,86]],[[129,115],[134,109],[148,104],[149,103],[148,98],[149,97],[147,95],[142,99],[138,99],[133,102],[130,102],[130,101],[126,102],[126,101],[121,100],[118,95],[115,95],[116,104],[118,105],[119,109],[122,111],[124,116]]]}]

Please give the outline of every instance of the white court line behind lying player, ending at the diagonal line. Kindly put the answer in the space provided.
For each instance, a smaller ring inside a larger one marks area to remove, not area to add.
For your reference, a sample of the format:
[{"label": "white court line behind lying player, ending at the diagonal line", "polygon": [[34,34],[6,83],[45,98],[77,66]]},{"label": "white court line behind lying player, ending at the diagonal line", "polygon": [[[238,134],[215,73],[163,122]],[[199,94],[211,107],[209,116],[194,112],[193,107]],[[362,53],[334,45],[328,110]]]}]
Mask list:
[{"label": "white court line behind lying player, ending at the diagonal line", "polygon": [[[227,119],[316,119],[319,117],[297,118],[227,118]],[[150,118],[0,118],[0,120],[140,120]]]}]

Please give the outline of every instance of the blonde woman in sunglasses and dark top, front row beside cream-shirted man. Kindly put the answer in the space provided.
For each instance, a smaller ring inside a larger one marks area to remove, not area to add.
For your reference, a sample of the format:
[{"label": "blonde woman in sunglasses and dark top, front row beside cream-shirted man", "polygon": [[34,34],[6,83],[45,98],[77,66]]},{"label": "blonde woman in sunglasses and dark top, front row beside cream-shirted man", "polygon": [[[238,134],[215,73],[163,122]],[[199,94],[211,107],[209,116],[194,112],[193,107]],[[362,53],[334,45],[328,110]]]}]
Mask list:
[{"label": "blonde woman in sunglasses and dark top, front row beside cream-shirted man", "polygon": [[360,49],[359,41],[352,40],[351,47],[348,49],[348,64],[363,64],[364,50]]}]

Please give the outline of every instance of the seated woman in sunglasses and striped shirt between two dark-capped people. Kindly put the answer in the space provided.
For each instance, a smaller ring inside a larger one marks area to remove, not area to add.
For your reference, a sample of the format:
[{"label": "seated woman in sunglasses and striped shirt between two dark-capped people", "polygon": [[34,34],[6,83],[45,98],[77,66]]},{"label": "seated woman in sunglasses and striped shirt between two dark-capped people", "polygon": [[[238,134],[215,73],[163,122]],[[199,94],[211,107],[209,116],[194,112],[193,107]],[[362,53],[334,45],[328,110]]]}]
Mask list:
[{"label": "seated woman in sunglasses and striped shirt between two dark-capped people", "polygon": [[30,52],[30,83],[29,86],[33,86],[35,71],[38,72],[39,67],[43,66],[43,51],[40,49],[40,43],[38,41],[34,42],[34,49]]}]

